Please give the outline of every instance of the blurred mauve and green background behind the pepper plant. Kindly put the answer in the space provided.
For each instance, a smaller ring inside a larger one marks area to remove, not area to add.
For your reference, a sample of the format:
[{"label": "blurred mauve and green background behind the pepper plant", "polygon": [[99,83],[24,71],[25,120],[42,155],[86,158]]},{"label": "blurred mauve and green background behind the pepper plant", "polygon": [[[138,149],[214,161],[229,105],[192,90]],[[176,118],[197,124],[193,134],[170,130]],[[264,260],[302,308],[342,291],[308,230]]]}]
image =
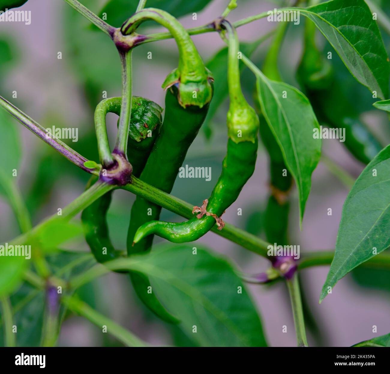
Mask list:
[{"label": "blurred mauve and green background behind the pepper plant", "polygon": [[[81,2],[99,13],[107,0]],[[121,3],[123,0],[117,2]],[[137,3],[134,0],[133,9],[129,9],[119,20],[110,20],[108,12],[108,23],[118,27],[134,12]],[[227,3],[227,0],[214,0],[204,9],[197,10],[196,20],[193,20],[191,10],[190,15],[182,17],[181,21],[186,28],[204,25],[219,16]],[[230,13],[229,20],[235,21],[273,9],[280,3],[239,0],[239,7]],[[390,4],[387,1],[376,3],[390,15]],[[90,27],[87,20],[63,1],[29,0],[20,9],[31,10],[30,25],[0,22],[0,95],[45,128],[53,125],[78,128],[78,142],[70,142],[69,145],[88,159],[97,161],[94,108],[102,100],[103,91],[107,92],[107,97],[121,95],[121,68],[115,46],[103,32]],[[275,26],[275,23],[263,19],[240,27],[240,41],[255,41]],[[144,29],[146,32],[164,31],[151,23],[147,23]],[[382,36],[389,53],[390,38],[385,32],[382,32]],[[303,24],[290,26],[279,59],[284,81],[297,87],[295,72],[302,52],[302,39]],[[325,50],[333,50],[326,45],[321,35],[318,40]],[[204,61],[209,61],[224,47],[217,33],[193,36],[193,41]],[[252,55],[257,66],[261,66],[268,46],[269,40],[262,43]],[[57,58],[58,52],[61,52],[62,59]],[[147,58],[148,52],[152,52],[152,59]],[[133,53],[133,93],[164,106],[165,93],[161,84],[166,75],[177,66],[177,57],[176,44],[172,40],[137,47]],[[343,90],[361,113],[361,118],[370,125],[383,142],[383,146],[387,145],[390,131],[386,114],[372,107],[369,91],[353,79],[335,52],[332,63]],[[255,80],[248,70],[243,73],[242,83],[245,95],[250,101]],[[16,98],[12,97],[14,91],[17,93]],[[225,100],[215,115],[207,118],[204,129],[201,129],[184,161],[184,164],[189,166],[211,167],[211,181],[198,179],[195,186],[191,179],[177,179],[172,191],[174,196],[194,205],[200,205],[202,200],[209,196],[220,175],[222,159],[226,152],[227,107],[228,102]],[[12,149],[12,152],[15,152],[14,159],[20,158],[17,183],[35,225],[43,218],[56,213],[58,207],[66,206],[80,195],[85,189],[89,175],[69,163],[10,116],[0,113],[0,119],[4,125],[11,123],[17,133],[18,142],[12,136],[10,139],[0,138],[0,148],[3,153],[5,149],[7,152]],[[117,116],[107,116],[112,145],[115,140],[116,121]],[[354,178],[364,168],[337,140],[324,140],[323,152]],[[225,213],[224,219],[227,222],[256,235],[264,235],[262,226],[268,198],[268,175],[268,156],[260,145],[255,174],[238,200]],[[302,252],[334,249],[342,205],[347,193],[348,188],[330,173],[324,163],[319,163],[312,177],[312,190],[302,231],[299,229],[297,192],[293,189],[289,221],[290,242],[299,244]],[[7,201],[1,195],[0,197],[0,242],[5,242],[17,236],[20,231]],[[108,223],[117,249],[126,247],[129,213],[134,199],[134,195],[125,191],[115,191],[113,194]],[[238,208],[242,208],[242,216],[236,214]],[[332,216],[327,215],[328,208],[332,208]],[[166,210],[163,210],[161,219],[182,220]],[[159,241],[160,238],[155,239],[155,243]],[[266,259],[213,233],[206,234],[199,242],[225,254],[244,272],[258,273],[269,266]],[[89,251],[82,236],[66,243],[64,247]],[[53,267],[64,266],[64,261],[69,261],[65,257],[53,257]],[[316,267],[301,272],[305,311],[310,317],[307,320],[309,345],[349,346],[374,337],[373,325],[378,326],[378,336],[389,333],[390,272],[358,269],[340,280],[332,297],[327,297],[319,305],[319,294],[328,269],[329,267]],[[293,317],[285,285],[281,282],[271,286],[249,285],[248,289],[261,315],[269,345],[295,346]],[[20,301],[29,292],[29,286],[23,285],[12,296],[12,304]],[[108,274],[83,286],[78,293],[92,307],[151,344],[191,344],[184,339],[179,329],[160,322],[146,310],[133,292],[127,276]],[[21,326],[18,331],[18,345],[39,345],[43,299],[43,294],[37,293],[17,313],[16,319]],[[288,326],[287,333],[282,333],[283,325]],[[1,332],[0,343],[2,336]],[[111,346],[120,343],[108,334],[101,334],[100,329],[89,321],[73,316],[64,320],[58,345]]]}]

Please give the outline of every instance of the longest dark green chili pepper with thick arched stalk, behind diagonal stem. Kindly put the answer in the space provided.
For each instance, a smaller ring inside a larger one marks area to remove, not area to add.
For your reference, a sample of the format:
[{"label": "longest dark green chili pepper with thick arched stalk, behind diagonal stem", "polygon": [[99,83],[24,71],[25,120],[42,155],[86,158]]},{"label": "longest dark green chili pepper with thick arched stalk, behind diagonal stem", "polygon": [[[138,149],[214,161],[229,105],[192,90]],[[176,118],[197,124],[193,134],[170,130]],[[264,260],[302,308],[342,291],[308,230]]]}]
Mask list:
[{"label": "longest dark green chili pepper with thick arched stalk, behind diagonal stem", "polygon": [[[163,83],[163,88],[167,90],[164,122],[140,175],[142,181],[169,193],[187,150],[206,118],[213,96],[212,77],[188,32],[179,21],[165,11],[144,9],[137,12],[122,25],[122,34],[129,35],[135,32],[140,23],[146,20],[154,20],[166,27],[174,36],[179,50],[178,68],[170,73]],[[134,247],[133,237],[140,225],[150,220],[158,220],[160,212],[161,207],[137,197],[131,208],[128,254],[151,249],[152,236]],[[177,319],[167,315],[165,308],[155,297],[147,293],[150,282],[144,274],[131,272],[130,276],[138,297],[151,311],[164,320],[177,322]]]}]

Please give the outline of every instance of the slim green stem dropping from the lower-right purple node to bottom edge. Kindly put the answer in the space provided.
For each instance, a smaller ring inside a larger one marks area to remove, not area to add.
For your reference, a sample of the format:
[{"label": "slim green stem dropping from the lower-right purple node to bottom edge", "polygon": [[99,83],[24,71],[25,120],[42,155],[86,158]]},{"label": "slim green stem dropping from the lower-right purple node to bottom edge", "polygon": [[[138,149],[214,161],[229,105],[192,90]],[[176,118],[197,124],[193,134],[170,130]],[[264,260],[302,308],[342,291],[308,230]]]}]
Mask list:
[{"label": "slim green stem dropping from the lower-right purple node to bottom edge", "polygon": [[287,279],[286,283],[287,288],[289,290],[291,307],[293,309],[294,325],[298,347],[308,347],[305,331],[305,320],[303,319],[303,308],[301,292],[299,289],[298,273],[296,272],[291,279]]}]

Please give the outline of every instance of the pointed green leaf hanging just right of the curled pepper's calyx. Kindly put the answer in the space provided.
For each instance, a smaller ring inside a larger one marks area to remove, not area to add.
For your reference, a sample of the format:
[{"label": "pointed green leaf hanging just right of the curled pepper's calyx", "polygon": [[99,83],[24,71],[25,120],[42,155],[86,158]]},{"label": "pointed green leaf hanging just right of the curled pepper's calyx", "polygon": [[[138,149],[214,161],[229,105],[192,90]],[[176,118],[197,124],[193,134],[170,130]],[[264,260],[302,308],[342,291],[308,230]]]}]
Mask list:
[{"label": "pointed green leaf hanging just right of the curled pepper's calyx", "polygon": [[263,74],[257,76],[257,94],[261,113],[298,187],[302,224],[311,175],[321,156],[321,139],[314,138],[315,129],[319,129],[316,115],[307,97],[298,89],[283,82],[270,81]]}]

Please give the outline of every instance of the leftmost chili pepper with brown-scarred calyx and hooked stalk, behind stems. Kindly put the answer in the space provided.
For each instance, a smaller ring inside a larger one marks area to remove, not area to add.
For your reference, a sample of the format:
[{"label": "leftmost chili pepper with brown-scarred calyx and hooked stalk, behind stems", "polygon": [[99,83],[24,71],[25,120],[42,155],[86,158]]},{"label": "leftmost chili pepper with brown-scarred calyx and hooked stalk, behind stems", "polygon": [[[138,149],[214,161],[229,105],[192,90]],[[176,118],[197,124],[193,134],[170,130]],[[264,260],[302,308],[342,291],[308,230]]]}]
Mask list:
[{"label": "leftmost chili pepper with brown-scarred calyx and hooked stalk, behind stems", "polygon": [[[112,97],[102,100],[96,107],[95,125],[97,134],[107,136],[106,114],[115,113],[119,115],[121,111],[121,97]],[[128,159],[133,165],[133,174],[139,176],[147,157],[152,149],[152,145],[158,134],[161,125],[162,108],[155,102],[142,98],[133,97],[133,107],[131,109],[131,121],[129,127],[129,147]],[[98,139],[101,139],[98,136]],[[99,141],[100,142],[100,141]],[[101,142],[108,144],[105,142]],[[100,158],[104,158],[102,144],[99,144]],[[87,188],[97,181],[93,176]],[[110,207],[112,191],[106,193],[82,212],[82,222],[85,231],[85,239],[95,256],[96,261],[104,263],[120,256],[121,251],[115,250],[108,234],[106,215]]]}]

